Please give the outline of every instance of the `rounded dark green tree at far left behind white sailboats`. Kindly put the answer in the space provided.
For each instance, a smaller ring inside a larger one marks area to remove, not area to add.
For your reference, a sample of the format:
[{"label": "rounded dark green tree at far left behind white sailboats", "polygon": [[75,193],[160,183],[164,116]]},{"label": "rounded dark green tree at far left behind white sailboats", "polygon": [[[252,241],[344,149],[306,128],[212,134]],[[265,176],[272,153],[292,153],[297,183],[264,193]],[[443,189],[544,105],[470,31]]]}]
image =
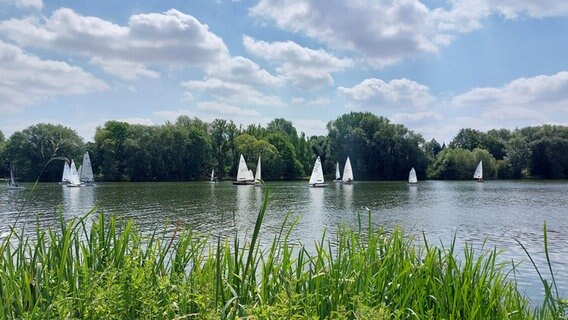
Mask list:
[{"label": "rounded dark green tree at far left behind white sailboats", "polygon": [[40,123],[15,132],[6,144],[5,156],[24,181],[58,181],[63,168],[61,159],[78,159],[84,149],[83,139],[75,130]]}]

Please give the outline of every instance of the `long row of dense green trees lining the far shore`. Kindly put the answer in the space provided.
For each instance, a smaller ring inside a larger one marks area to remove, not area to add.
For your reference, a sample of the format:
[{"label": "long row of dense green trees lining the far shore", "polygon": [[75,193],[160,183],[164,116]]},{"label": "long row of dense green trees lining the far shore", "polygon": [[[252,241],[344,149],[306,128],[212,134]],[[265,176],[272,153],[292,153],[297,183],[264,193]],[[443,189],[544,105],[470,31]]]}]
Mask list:
[{"label": "long row of dense green trees lining the far shore", "polygon": [[236,176],[240,154],[265,180],[302,179],[315,158],[332,176],[351,159],[356,180],[402,180],[414,167],[419,179],[470,179],[483,160],[486,178],[568,178],[568,127],[542,125],[482,132],[462,129],[446,146],[369,112],[352,112],[327,124],[327,135],[306,137],[285,119],[237,126],[180,116],[162,125],[108,121],[85,143],[75,130],[40,123],[8,139],[0,131],[0,176],[9,163],[20,181],[59,181],[63,161],[90,153],[97,181],[191,181],[214,169]]}]

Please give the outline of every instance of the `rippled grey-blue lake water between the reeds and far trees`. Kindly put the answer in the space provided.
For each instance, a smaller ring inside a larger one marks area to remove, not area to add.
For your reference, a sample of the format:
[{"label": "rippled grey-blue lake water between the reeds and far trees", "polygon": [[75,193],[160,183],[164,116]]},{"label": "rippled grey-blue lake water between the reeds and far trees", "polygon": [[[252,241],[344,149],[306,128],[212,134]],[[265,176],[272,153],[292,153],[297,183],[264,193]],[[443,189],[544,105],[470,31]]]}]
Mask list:
[{"label": "rippled grey-blue lake water between the reeds and far trees", "polygon": [[[421,181],[330,182],[327,188],[307,188],[307,182],[273,182],[262,228],[262,241],[272,239],[289,212],[299,217],[291,233],[308,246],[333,234],[340,225],[357,227],[371,214],[375,228],[401,226],[407,234],[422,233],[431,244],[449,245],[456,237],[465,242],[504,252],[503,261],[522,262],[516,274],[521,290],[535,301],[542,285],[519,244],[529,250],[541,272],[548,274],[544,255],[543,225],[548,227],[549,253],[560,294],[568,297],[568,182],[567,181]],[[29,193],[0,189],[0,232],[14,225],[32,231],[57,227],[57,211],[66,218],[81,216],[92,208],[105,214],[132,217],[142,230],[191,225],[204,233],[250,235],[264,188],[233,186],[230,182],[99,183],[94,187],[67,188],[38,184]],[[29,195],[29,196],[28,196]],[[26,201],[26,197],[28,198]]]}]

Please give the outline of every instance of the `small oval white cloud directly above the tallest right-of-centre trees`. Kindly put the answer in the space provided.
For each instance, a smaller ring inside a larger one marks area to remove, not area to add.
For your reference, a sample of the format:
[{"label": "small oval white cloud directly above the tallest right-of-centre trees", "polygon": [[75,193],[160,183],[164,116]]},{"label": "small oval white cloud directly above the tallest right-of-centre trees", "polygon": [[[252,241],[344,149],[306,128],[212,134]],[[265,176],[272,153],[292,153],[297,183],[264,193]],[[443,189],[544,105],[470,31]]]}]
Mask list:
[{"label": "small oval white cloud directly above the tallest right-of-centre trees", "polygon": [[339,87],[337,90],[352,99],[354,104],[364,103],[370,107],[424,109],[434,100],[427,86],[404,78],[390,82],[370,78],[354,87]]}]

